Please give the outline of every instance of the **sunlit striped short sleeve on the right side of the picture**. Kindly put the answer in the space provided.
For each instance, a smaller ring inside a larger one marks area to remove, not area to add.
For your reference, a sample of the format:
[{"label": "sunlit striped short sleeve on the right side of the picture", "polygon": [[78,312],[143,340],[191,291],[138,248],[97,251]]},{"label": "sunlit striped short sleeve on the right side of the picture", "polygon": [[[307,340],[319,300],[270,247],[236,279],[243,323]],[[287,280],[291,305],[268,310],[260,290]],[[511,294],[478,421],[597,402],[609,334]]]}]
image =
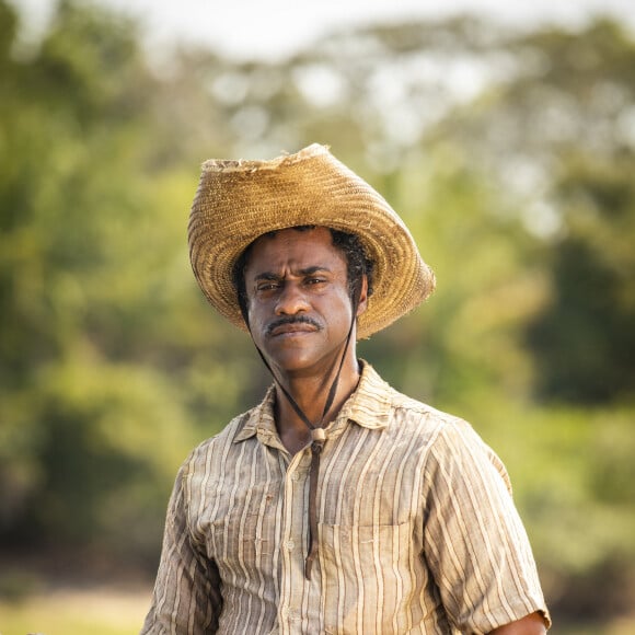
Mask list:
[{"label": "sunlit striped short sleeve on the right side of the picture", "polygon": [[498,457],[469,424],[446,425],[425,467],[424,557],[461,633],[489,633],[541,612],[551,625],[529,539]]}]

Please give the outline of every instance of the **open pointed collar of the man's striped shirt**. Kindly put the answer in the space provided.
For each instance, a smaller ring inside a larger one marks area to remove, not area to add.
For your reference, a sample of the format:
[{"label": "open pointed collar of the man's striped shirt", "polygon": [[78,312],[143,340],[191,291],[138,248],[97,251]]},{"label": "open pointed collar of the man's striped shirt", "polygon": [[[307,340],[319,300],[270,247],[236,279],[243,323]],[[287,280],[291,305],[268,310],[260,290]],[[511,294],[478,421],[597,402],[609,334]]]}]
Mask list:
[{"label": "open pointed collar of the man's striped shirt", "polygon": [[[360,360],[360,363],[359,384],[346,400],[336,419],[328,426],[330,431],[335,431],[348,420],[369,429],[381,429],[389,425],[393,390],[370,363],[363,360]],[[274,441],[278,438],[274,418],[275,399],[276,390],[272,385],[263,401],[246,414],[242,429],[234,437],[235,443],[257,435],[268,444],[278,444]]]}]

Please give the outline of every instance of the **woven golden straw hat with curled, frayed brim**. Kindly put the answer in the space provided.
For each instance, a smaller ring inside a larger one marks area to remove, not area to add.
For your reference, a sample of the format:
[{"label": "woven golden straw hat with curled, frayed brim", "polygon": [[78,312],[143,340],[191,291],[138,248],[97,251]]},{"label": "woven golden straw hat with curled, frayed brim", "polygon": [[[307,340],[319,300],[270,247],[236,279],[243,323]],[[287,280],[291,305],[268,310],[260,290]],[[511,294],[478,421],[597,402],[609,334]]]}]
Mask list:
[{"label": "woven golden straw hat with curled, frayed brim", "polygon": [[232,270],[258,236],[314,224],[355,233],[374,262],[374,291],[359,316],[357,337],[369,337],[423,302],[435,276],[404,222],[363,180],[313,143],[272,161],[203,164],[188,226],[194,275],[209,302],[246,331]]}]

